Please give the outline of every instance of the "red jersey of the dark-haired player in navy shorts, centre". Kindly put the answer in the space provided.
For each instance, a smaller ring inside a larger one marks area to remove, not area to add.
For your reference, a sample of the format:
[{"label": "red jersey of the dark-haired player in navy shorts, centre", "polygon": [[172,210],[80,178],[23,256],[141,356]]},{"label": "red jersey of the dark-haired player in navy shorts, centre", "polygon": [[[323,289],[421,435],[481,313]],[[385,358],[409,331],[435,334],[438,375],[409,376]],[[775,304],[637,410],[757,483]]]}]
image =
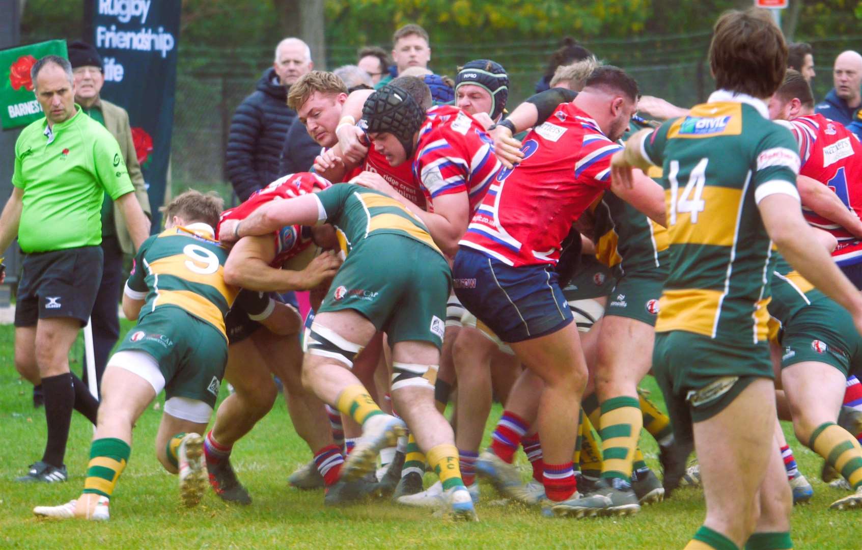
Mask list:
[{"label": "red jersey of the dark-haired player in navy shorts, centre", "polygon": [[490,185],[459,244],[509,266],[555,265],[572,223],[610,187],[622,147],[573,103],[522,141],[524,158]]}]

